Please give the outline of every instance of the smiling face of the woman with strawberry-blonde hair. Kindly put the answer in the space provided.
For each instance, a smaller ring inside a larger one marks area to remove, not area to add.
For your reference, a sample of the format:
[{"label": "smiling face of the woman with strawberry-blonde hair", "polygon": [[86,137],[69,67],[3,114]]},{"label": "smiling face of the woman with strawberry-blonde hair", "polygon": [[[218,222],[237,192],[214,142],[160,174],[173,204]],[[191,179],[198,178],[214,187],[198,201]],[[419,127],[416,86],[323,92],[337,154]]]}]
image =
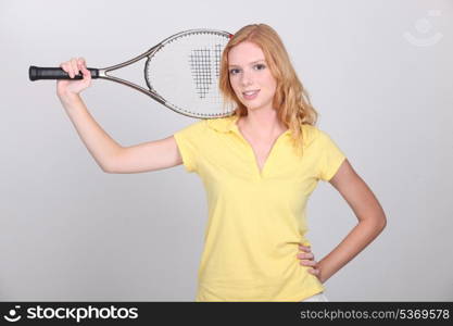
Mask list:
[{"label": "smiling face of the woman with strawberry-blonde hair", "polygon": [[236,96],[249,110],[273,109],[277,80],[270,73],[263,51],[243,41],[228,53],[229,83]]}]

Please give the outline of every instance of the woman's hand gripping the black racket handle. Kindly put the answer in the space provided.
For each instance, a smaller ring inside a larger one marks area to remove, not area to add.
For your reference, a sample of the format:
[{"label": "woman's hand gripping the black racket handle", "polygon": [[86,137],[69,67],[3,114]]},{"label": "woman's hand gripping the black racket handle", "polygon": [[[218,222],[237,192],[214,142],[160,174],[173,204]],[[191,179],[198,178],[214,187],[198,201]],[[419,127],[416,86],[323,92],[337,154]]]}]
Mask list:
[{"label": "woman's hand gripping the black racket handle", "polygon": [[91,73],[87,70],[84,58],[73,58],[60,64],[60,67],[70,74],[71,78],[74,78],[79,72],[84,75],[84,79],[59,79],[56,82],[56,95],[60,99],[77,96],[91,85]]}]

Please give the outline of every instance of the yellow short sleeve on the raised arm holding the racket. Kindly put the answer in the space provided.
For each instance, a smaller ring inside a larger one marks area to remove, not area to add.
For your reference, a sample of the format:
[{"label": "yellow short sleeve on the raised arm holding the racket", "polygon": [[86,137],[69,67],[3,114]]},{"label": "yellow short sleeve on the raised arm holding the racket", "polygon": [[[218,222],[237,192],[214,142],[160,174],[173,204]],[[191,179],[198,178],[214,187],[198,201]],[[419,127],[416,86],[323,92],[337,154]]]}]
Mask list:
[{"label": "yellow short sleeve on the raised arm holding the racket", "polygon": [[179,153],[183,158],[183,164],[187,172],[197,172],[199,159],[199,141],[202,138],[202,131],[205,126],[204,121],[192,123],[191,125],[176,131],[173,137],[178,146]]}]

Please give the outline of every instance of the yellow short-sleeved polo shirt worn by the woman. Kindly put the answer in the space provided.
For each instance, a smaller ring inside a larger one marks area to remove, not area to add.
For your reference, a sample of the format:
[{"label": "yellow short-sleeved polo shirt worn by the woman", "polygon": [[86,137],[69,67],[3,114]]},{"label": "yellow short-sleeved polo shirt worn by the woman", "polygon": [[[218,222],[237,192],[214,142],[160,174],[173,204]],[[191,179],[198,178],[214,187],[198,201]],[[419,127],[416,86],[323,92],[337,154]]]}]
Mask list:
[{"label": "yellow short-sleeved polo shirt worn by the woman", "polygon": [[288,129],[260,173],[236,122],[201,120],[174,134],[186,171],[201,177],[207,198],[196,301],[302,301],[325,289],[297,258],[299,243],[311,244],[306,202],[345,155],[325,131],[303,125],[304,155]]}]

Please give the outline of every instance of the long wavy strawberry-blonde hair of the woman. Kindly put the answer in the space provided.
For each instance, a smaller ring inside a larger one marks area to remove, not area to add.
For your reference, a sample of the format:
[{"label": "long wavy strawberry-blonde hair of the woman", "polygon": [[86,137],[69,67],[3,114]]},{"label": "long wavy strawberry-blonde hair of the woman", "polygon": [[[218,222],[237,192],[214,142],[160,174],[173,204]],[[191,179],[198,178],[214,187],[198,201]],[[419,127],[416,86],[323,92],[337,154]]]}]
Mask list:
[{"label": "long wavy strawberry-blonde hair of the woman", "polygon": [[277,110],[277,117],[291,130],[293,146],[295,149],[300,148],[302,153],[302,125],[314,126],[318,113],[311,104],[309,93],[299,80],[280,37],[270,26],[247,25],[239,29],[226,45],[222,53],[219,71],[219,89],[225,102],[237,105],[234,114],[238,117],[247,115],[247,108],[237,98],[230,85],[228,70],[229,51],[243,41],[253,42],[263,51],[267,65],[277,80],[273,103]]}]

